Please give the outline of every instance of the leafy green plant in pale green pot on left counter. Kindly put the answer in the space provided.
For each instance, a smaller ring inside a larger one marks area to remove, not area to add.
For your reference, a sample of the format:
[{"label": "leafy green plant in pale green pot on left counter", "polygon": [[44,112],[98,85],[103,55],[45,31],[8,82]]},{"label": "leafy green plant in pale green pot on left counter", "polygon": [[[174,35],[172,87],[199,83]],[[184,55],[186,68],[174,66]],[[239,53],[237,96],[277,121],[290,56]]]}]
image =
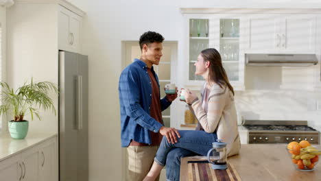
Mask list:
[{"label": "leafy green plant in pale green pot on left counter", "polygon": [[31,119],[34,116],[40,120],[38,109],[52,110],[56,115],[56,108],[53,105],[49,93],[58,94],[58,88],[51,82],[34,83],[33,79],[30,84],[14,90],[6,82],[0,82],[1,106],[0,115],[10,112],[13,120],[9,121],[8,128],[12,138],[23,139],[27,136],[29,122],[24,119],[26,114],[30,114]]}]

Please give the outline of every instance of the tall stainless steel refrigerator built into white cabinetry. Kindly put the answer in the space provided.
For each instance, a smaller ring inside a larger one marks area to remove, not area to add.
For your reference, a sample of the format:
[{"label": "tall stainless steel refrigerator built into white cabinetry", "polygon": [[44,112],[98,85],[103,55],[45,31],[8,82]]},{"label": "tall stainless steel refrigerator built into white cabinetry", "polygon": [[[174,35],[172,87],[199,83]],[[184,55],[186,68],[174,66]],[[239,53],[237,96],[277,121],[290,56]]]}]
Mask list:
[{"label": "tall stainless steel refrigerator built into white cabinetry", "polygon": [[59,178],[88,181],[88,56],[59,51]]}]

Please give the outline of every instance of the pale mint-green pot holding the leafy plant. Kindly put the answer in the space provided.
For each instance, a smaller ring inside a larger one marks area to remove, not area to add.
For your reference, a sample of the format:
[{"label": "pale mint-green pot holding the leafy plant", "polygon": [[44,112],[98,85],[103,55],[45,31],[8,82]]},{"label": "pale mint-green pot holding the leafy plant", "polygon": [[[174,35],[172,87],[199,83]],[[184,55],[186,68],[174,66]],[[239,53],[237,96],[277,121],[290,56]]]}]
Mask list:
[{"label": "pale mint-green pot holding the leafy plant", "polygon": [[29,122],[28,121],[9,121],[8,123],[9,132],[14,139],[23,139],[27,136]]}]

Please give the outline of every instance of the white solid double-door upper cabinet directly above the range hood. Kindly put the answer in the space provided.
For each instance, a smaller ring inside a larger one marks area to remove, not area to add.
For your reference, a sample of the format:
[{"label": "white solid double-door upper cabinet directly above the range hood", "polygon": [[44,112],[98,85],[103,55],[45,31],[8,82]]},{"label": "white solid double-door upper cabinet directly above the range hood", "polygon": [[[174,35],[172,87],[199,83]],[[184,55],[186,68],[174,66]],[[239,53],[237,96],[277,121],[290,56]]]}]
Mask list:
[{"label": "white solid double-door upper cabinet directly above the range hood", "polygon": [[316,53],[316,15],[249,14],[246,53]]}]

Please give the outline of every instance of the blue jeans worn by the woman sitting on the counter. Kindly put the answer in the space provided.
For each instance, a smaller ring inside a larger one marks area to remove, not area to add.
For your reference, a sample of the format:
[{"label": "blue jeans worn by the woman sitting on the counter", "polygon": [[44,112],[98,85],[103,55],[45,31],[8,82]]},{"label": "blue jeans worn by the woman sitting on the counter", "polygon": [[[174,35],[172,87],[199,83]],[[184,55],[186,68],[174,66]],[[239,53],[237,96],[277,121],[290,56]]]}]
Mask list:
[{"label": "blue jeans worn by the woman sitting on the counter", "polygon": [[[175,144],[168,143],[167,138],[163,140],[154,158],[158,165],[166,165],[167,180],[180,180],[180,158],[185,156],[206,156],[212,143],[217,140],[216,133],[204,131],[180,130],[180,138]],[[177,149],[178,148],[178,149]]]}]

